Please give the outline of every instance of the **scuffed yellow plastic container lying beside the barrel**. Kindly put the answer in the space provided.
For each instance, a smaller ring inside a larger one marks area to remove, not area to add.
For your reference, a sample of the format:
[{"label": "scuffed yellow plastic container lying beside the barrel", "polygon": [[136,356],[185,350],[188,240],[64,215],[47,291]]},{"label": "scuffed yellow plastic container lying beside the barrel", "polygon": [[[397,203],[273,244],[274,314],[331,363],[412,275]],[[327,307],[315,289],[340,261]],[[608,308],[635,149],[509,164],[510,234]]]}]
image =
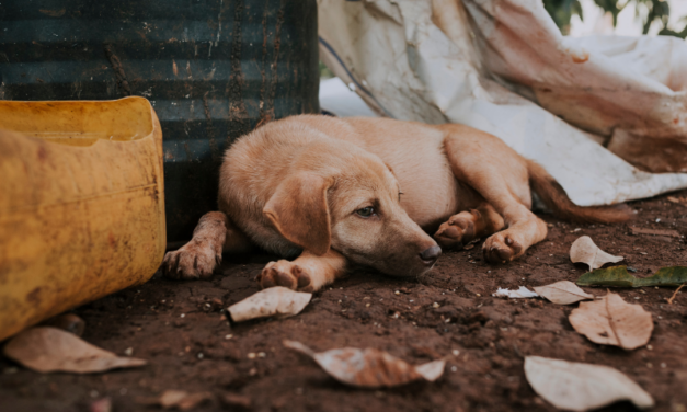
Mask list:
[{"label": "scuffed yellow plastic container lying beside the barrel", "polygon": [[0,101],[0,340],[162,262],[162,131],[146,99]]}]

